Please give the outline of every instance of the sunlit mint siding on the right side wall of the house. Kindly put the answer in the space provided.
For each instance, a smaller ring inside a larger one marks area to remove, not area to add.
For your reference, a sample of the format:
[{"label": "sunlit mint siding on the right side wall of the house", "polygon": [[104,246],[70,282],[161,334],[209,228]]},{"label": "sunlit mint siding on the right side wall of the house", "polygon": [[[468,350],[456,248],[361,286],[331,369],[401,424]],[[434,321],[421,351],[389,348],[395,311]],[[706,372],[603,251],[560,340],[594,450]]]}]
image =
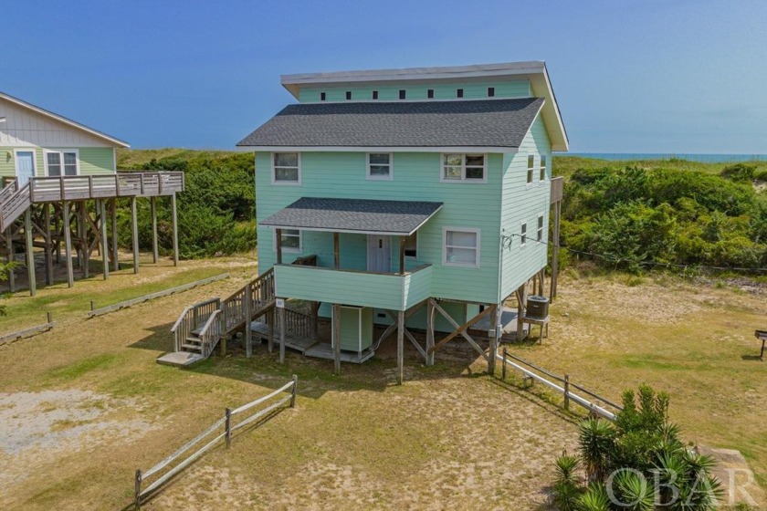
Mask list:
[{"label": "sunlit mint siding on the right side wall of the house", "polygon": [[[533,183],[527,184],[528,155],[535,155]],[[546,154],[546,180],[538,181],[541,154]],[[549,240],[549,201],[551,193],[552,151],[546,129],[539,116],[520,145],[517,154],[504,157],[503,213],[501,229],[511,236],[510,247],[502,251],[501,294],[508,297],[528,278],[546,266],[548,246],[536,241],[538,216],[543,214],[543,242]],[[527,223],[528,241],[520,245],[521,224]]]}]

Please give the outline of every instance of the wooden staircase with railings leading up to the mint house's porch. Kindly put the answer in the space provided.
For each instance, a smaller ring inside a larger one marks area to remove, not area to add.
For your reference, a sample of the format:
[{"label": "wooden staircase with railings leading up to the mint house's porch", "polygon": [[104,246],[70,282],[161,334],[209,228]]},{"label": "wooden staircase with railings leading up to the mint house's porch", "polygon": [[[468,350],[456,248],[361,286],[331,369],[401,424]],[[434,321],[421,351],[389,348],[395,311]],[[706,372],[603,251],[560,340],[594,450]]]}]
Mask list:
[{"label": "wooden staircase with railings leading up to the mint house's porch", "polygon": [[274,305],[272,269],[257,276],[225,300],[216,297],[190,305],[184,308],[171,328],[173,352],[158,358],[157,362],[188,366],[205,360],[222,338],[250,328],[254,318],[263,316]]}]

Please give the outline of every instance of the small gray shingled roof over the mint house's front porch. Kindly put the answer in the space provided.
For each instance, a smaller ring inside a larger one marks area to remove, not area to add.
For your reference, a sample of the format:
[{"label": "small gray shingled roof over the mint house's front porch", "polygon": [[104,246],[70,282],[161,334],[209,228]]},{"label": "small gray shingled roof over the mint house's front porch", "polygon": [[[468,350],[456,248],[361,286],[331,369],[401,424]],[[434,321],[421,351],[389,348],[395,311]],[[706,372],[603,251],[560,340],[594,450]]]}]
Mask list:
[{"label": "small gray shingled roof over the mint house's front porch", "polygon": [[278,229],[412,235],[442,203],[301,197],[259,222]]}]

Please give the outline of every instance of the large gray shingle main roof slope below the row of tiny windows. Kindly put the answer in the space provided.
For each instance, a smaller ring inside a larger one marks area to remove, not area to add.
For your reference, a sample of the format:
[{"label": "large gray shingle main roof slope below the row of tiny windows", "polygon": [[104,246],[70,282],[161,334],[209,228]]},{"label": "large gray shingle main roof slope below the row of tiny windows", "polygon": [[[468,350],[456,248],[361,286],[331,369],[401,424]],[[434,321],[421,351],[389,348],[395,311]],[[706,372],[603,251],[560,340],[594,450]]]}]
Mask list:
[{"label": "large gray shingle main roof slope below the row of tiny windows", "polygon": [[519,148],[542,104],[541,98],[300,103],[237,145]]}]

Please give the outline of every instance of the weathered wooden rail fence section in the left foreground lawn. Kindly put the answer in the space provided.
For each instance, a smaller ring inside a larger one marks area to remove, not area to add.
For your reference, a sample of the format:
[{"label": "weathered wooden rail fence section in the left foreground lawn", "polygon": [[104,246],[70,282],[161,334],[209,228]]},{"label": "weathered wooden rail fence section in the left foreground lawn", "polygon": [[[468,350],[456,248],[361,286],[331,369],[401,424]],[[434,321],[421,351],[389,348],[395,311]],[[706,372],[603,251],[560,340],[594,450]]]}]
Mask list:
[{"label": "weathered wooden rail fence section in the left foreground lawn", "polygon": [[[177,449],[173,454],[169,455],[163,461],[161,461],[159,464],[155,464],[150,468],[149,470],[143,471],[141,469],[136,470],[136,478],[135,478],[135,495],[134,495],[134,504],[136,509],[140,509],[142,506],[142,503],[145,502],[155,491],[157,491],[162,485],[167,483],[175,474],[180,473],[184,470],[187,466],[194,463],[195,460],[197,460],[200,456],[205,454],[208,450],[210,450],[215,443],[217,443],[219,440],[225,439],[226,440],[226,447],[228,448],[231,445],[232,441],[232,433],[234,433],[236,430],[243,428],[247,426],[247,424],[250,424],[252,422],[257,421],[257,419],[264,417],[268,414],[268,412],[272,412],[276,410],[278,407],[284,405],[286,402],[290,402],[290,408],[295,407],[296,405],[296,388],[299,384],[299,377],[295,374],[293,375],[293,379],[280,387],[276,391],[272,391],[268,395],[258,398],[256,401],[248,402],[247,404],[244,404],[234,410],[226,409],[224,413],[224,417],[218,419],[216,422],[211,424],[207,429],[205,429],[204,432],[198,434],[195,436],[192,440],[190,440],[187,443],[184,443],[183,446],[181,446],[179,449]],[[268,401],[276,396],[278,394],[289,391],[289,395],[286,397],[280,399],[279,401],[276,401],[268,407],[264,408],[263,410],[259,410],[258,412],[253,413],[252,415],[248,416],[246,419],[243,419],[242,421],[238,422],[237,424],[233,424],[233,418],[240,413],[247,412],[248,410],[251,410],[252,408],[258,406],[259,404],[263,404],[265,401]],[[203,443],[205,440],[208,439],[211,435],[216,433],[216,431],[224,427],[224,431],[222,433],[215,434],[213,438],[208,440],[205,445],[194,451],[194,453],[189,454],[184,460],[182,460],[179,464],[176,464],[165,472],[163,475],[158,477],[156,480],[152,482],[151,485],[146,486],[142,489],[142,484],[146,482],[147,479],[152,477],[153,475],[160,474],[163,469],[166,469],[169,465],[173,464],[174,461],[178,460],[182,454],[192,450],[193,447],[195,447],[198,443]]]}]

